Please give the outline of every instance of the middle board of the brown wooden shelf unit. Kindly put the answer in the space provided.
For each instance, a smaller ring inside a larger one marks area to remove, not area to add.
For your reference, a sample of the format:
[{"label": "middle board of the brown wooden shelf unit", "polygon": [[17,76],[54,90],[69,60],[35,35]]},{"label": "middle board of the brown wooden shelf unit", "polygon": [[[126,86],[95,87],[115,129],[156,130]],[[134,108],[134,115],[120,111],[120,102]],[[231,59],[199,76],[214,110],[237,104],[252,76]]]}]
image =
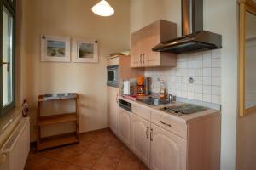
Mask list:
[{"label": "middle board of the brown wooden shelf unit", "polygon": [[75,122],[77,120],[78,116],[76,113],[67,113],[53,116],[40,116],[38,120],[38,126],[44,126],[60,122]]}]

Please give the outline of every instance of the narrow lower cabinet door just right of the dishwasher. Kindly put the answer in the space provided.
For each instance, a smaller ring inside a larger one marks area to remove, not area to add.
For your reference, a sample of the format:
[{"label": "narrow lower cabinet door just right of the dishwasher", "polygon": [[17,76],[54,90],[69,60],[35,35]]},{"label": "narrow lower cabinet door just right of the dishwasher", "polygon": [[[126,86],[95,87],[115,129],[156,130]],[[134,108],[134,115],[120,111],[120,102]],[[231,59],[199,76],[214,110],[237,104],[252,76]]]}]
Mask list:
[{"label": "narrow lower cabinet door just right of the dishwasher", "polygon": [[131,150],[149,165],[150,160],[150,122],[132,114],[131,116]]}]

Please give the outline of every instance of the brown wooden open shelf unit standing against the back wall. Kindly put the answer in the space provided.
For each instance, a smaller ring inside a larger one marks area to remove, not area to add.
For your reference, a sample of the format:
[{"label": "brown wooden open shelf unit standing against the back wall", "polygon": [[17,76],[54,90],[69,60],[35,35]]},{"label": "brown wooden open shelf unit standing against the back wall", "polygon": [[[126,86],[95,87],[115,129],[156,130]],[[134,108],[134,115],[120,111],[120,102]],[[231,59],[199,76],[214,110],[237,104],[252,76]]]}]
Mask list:
[{"label": "brown wooden open shelf unit standing against the back wall", "polygon": [[[37,125],[38,125],[38,141],[37,150],[45,150],[53,148],[56,146],[61,146],[65,144],[79,143],[79,95],[75,94],[73,98],[75,100],[75,112],[73,113],[62,113],[50,116],[41,116],[41,104],[42,102],[52,102],[63,99],[44,99],[44,95],[38,96],[38,115],[37,115]],[[55,136],[42,137],[41,127],[49,126],[61,122],[74,122],[76,124],[76,131],[73,133],[62,133]]]}]

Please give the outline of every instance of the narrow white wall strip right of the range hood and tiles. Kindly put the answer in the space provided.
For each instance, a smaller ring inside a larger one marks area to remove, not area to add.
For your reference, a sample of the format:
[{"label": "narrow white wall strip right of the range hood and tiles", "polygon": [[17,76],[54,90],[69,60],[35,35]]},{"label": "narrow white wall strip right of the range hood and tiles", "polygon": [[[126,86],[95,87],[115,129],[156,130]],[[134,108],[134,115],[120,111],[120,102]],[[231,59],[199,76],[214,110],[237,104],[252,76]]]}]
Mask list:
[{"label": "narrow white wall strip right of the range hood and tiles", "polygon": [[[204,1],[205,29],[223,36],[222,57],[222,136],[221,169],[236,168],[237,117],[237,3],[236,1]],[[207,20],[206,20],[207,19]]]}]

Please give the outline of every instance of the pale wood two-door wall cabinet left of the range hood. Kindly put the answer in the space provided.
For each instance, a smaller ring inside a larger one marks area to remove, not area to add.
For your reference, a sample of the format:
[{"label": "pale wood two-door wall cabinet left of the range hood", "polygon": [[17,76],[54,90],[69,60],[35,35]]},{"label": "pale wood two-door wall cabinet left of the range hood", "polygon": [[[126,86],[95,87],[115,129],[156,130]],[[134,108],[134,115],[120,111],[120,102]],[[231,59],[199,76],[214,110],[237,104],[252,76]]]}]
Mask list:
[{"label": "pale wood two-door wall cabinet left of the range hood", "polygon": [[177,24],[157,20],[131,34],[131,67],[176,66],[177,55],[154,52],[152,48],[160,42],[177,37]]}]

